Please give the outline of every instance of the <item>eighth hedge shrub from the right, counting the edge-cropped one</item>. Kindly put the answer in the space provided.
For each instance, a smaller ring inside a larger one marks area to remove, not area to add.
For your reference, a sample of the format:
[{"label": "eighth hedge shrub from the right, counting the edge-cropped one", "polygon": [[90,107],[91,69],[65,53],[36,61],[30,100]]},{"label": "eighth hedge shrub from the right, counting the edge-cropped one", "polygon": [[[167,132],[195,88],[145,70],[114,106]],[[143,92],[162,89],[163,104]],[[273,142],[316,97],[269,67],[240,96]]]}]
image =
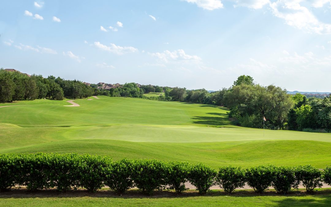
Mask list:
[{"label": "eighth hedge shrub from the right, counting the edge-cropped one", "polygon": [[159,160],[135,160],[132,179],[143,193],[152,195],[154,190],[165,189],[166,165]]}]

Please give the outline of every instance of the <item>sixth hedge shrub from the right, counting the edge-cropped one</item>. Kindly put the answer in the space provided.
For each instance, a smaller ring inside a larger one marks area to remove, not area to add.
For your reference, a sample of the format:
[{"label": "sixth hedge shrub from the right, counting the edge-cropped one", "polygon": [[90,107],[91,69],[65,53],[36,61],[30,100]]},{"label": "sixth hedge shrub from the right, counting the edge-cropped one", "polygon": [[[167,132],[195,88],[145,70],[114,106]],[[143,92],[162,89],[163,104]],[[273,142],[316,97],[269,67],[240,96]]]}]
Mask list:
[{"label": "sixth hedge shrub from the right, counting the edge-cropped one", "polygon": [[206,194],[214,185],[216,175],[215,169],[199,163],[191,165],[188,180],[199,190],[200,194]]}]

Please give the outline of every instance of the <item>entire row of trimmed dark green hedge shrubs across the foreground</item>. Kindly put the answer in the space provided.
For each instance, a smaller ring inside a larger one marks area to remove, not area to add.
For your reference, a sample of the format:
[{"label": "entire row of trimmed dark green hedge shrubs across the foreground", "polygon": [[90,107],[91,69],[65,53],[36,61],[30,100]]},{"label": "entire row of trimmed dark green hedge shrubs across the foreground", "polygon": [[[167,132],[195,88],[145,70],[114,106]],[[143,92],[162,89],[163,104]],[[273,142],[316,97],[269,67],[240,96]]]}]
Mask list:
[{"label": "entire row of trimmed dark green hedge shrubs across the foreground", "polygon": [[107,185],[116,193],[137,187],[151,195],[155,190],[174,189],[181,193],[189,181],[205,194],[215,184],[231,193],[247,182],[256,192],[273,186],[287,193],[302,181],[307,191],[331,184],[331,167],[323,171],[310,165],[298,167],[258,166],[248,169],[221,167],[217,172],[203,164],[158,160],[119,160],[88,154],[2,154],[0,190],[24,185],[28,190],[56,187],[60,191],[84,187],[90,192]]}]

